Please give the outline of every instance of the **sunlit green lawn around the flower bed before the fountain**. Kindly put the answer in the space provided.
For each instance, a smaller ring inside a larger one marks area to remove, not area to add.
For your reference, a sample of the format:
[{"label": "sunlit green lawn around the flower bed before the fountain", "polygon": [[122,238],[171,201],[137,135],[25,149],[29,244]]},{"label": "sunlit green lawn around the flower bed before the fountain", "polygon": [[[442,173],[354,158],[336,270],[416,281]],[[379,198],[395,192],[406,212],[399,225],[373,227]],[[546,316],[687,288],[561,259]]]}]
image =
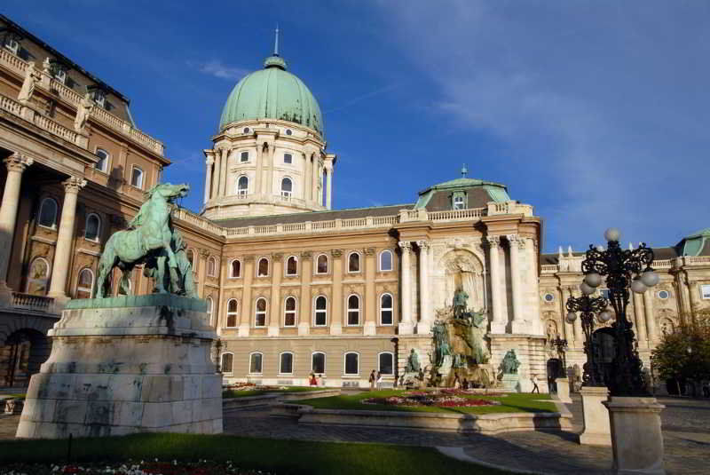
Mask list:
[{"label": "sunlit green lawn around the flower bed before the fountain", "polygon": [[444,412],[444,413],[466,413],[466,414],[493,414],[505,412],[557,412],[555,404],[550,400],[548,394],[530,394],[520,392],[509,392],[502,397],[483,396],[472,394],[466,396],[476,400],[499,400],[500,406],[477,406],[469,408],[437,408],[434,406],[386,406],[383,404],[363,404],[361,400],[368,398],[387,398],[397,396],[407,391],[383,390],[372,392],[360,392],[354,395],[331,396],[329,398],[319,398],[315,400],[296,400],[295,404],[304,404],[319,409],[354,409],[354,410],[383,410],[383,411],[410,411],[410,412]]}]

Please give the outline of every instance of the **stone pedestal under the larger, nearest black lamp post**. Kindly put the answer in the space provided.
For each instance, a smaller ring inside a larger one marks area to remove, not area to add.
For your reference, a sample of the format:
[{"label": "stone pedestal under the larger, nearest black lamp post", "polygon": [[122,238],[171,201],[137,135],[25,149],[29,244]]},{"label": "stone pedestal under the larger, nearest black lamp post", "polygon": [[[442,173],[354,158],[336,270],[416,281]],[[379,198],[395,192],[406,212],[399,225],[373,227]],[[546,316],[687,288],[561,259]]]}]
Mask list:
[{"label": "stone pedestal under the larger, nearest black lamp post", "polygon": [[660,411],[656,398],[611,397],[604,402],[611,420],[613,471],[619,475],[665,475]]}]

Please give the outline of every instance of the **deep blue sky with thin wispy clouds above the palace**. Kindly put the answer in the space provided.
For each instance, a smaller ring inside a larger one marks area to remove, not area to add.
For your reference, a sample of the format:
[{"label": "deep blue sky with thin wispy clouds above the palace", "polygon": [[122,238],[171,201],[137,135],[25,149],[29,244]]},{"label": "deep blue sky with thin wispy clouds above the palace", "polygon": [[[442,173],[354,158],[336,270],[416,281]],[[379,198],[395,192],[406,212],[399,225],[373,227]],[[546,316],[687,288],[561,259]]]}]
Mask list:
[{"label": "deep blue sky with thin wispy clouds above the palace", "polygon": [[325,113],[334,207],[504,183],[543,249],[604,228],[672,245],[710,226],[710,3],[44,2],[2,12],[131,99],[201,205],[203,148],[234,84],[280,52]]}]

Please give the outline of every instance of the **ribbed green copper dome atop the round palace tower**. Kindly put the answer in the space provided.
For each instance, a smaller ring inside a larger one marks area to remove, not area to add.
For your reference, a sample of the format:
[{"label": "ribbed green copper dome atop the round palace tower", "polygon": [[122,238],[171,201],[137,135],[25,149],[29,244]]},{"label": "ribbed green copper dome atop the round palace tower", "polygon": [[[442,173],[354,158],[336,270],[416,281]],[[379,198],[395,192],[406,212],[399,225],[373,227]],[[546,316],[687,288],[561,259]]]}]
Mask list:
[{"label": "ribbed green copper dome atop the round palace tower", "polygon": [[286,61],[273,55],[264,60],[264,69],[243,77],[227,99],[219,129],[237,121],[280,119],[309,127],[324,138],[318,102],[286,67]]}]

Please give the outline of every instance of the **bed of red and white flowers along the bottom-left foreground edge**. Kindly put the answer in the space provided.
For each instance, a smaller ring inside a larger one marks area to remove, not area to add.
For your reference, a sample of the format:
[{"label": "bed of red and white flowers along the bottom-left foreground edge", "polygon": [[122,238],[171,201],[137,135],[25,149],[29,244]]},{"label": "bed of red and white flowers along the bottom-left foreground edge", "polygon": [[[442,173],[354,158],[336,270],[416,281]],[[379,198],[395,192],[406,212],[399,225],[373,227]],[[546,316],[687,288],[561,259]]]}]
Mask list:
[{"label": "bed of red and white flowers along the bottom-left foreground edge", "polygon": [[153,462],[139,461],[127,463],[69,463],[43,465],[36,463],[12,463],[0,468],[0,475],[270,475],[272,472],[245,470],[232,462],[217,463],[208,460],[199,462]]}]

